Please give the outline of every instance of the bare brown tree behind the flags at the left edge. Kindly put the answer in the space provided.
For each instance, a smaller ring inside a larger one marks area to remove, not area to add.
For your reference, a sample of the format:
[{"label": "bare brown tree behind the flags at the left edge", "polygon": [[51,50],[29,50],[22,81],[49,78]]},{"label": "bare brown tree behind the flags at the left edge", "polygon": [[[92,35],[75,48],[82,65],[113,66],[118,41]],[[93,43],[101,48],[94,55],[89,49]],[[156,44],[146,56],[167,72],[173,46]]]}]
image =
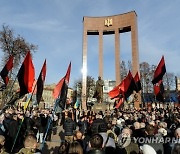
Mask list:
[{"label": "bare brown tree behind the flags at the left edge", "polygon": [[[3,52],[2,58],[2,67],[7,62],[7,59],[12,55],[14,57],[14,65],[13,70],[9,73],[10,82],[6,89],[2,92],[2,104],[7,101],[7,98],[13,96],[13,91],[11,91],[10,87],[12,87],[13,78],[17,75],[17,71],[19,65],[21,65],[26,53],[28,51],[35,52],[37,50],[37,46],[34,44],[28,43],[25,38],[20,35],[15,36],[14,31],[7,25],[2,26],[2,30],[0,31],[0,48]],[[2,105],[3,106],[3,105]]]}]

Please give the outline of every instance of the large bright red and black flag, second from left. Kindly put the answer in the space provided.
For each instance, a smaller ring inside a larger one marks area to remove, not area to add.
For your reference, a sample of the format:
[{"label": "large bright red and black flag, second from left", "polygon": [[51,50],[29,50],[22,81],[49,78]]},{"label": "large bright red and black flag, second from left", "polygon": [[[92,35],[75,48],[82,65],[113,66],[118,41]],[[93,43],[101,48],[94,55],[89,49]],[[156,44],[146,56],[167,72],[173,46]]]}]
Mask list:
[{"label": "large bright red and black flag, second from left", "polygon": [[20,86],[19,97],[32,92],[34,76],[35,76],[34,65],[32,62],[30,51],[28,51],[17,75]]}]

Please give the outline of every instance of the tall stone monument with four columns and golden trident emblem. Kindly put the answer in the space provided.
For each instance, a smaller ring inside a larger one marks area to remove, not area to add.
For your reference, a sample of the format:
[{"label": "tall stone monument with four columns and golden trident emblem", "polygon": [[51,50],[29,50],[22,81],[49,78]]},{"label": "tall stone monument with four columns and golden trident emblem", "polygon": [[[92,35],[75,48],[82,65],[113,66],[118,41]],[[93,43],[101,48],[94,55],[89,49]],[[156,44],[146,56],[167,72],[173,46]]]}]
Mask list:
[{"label": "tall stone monument with four columns and golden trident emblem", "polygon": [[[139,51],[137,14],[131,11],[124,14],[104,17],[83,18],[83,54],[82,54],[82,108],[86,109],[87,84],[87,37],[99,35],[99,76],[103,79],[103,35],[115,37],[115,74],[116,85],[120,83],[120,34],[131,31],[132,44],[132,73],[139,72]],[[139,102],[135,103],[139,108]]]}]

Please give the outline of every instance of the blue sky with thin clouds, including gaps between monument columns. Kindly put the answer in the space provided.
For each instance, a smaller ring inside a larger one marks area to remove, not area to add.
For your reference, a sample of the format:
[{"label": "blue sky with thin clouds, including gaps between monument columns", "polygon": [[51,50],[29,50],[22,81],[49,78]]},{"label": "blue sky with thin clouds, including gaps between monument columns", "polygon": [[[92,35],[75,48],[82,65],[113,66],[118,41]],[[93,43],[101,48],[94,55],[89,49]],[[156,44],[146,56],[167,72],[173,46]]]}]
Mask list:
[{"label": "blue sky with thin clouds, including gaps between monument columns", "polygon": [[[70,85],[81,77],[83,16],[136,11],[140,62],[180,75],[179,0],[1,0],[0,25],[6,24],[38,45],[33,63],[38,77],[47,59],[46,83],[57,83],[72,62]],[[121,60],[131,60],[130,33],[121,35]],[[2,58],[2,53],[0,53]],[[104,36],[104,79],[115,79],[114,36]],[[98,36],[88,37],[88,75],[98,76]]]}]

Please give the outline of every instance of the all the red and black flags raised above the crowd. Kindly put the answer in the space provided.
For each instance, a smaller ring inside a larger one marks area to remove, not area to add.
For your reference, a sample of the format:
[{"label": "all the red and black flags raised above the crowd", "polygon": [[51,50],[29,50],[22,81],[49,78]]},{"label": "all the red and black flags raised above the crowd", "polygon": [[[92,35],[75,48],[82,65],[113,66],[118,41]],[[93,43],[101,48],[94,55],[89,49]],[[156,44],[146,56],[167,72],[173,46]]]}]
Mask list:
[{"label": "all the red and black flags raised above the crowd", "polygon": [[[12,68],[13,68],[13,56],[10,56],[6,65],[0,72],[0,76],[2,77],[5,85],[8,84],[9,81],[8,72],[11,71]],[[56,100],[58,100],[59,102],[58,104],[61,106],[62,109],[64,109],[66,105],[70,72],[71,72],[71,62],[68,66],[65,76],[62,79],[60,79],[60,81],[55,86],[53,91],[53,96]],[[162,78],[165,73],[166,73],[166,67],[163,56],[154,72],[154,78],[152,80],[156,99],[160,101],[163,100],[164,90],[163,90]],[[33,93],[35,88],[37,87],[36,100],[37,103],[39,104],[43,93],[45,77],[46,77],[46,60],[44,61],[44,64],[42,66],[41,72],[37,79],[37,83],[35,86],[33,86],[33,83],[35,81],[35,69],[29,51],[17,74],[17,78],[20,86],[19,97],[27,93]],[[136,93],[138,93],[141,89],[142,87],[141,87],[139,73],[137,72],[136,75],[133,77],[132,73],[129,71],[126,78],[122,80],[122,82],[119,85],[114,87],[114,89],[109,92],[109,97],[111,99],[115,98],[118,101],[116,108],[119,108],[120,105],[124,102],[124,100],[127,100],[127,98],[133,93],[133,91],[136,91]]]}]

